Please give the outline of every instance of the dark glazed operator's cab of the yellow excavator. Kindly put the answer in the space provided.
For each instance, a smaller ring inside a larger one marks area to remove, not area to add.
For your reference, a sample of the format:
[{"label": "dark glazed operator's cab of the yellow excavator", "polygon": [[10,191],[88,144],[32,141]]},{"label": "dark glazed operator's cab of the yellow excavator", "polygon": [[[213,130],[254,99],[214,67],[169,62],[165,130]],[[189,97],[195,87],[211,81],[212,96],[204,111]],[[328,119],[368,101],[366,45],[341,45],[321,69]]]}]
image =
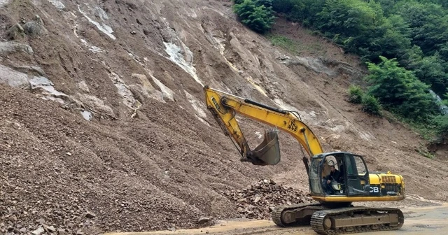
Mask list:
[{"label": "dark glazed operator's cab of the yellow excavator", "polygon": [[[335,173],[330,174],[332,168]],[[312,157],[309,185],[312,196],[324,198],[362,197],[371,191],[363,157],[350,152],[329,152]]]}]

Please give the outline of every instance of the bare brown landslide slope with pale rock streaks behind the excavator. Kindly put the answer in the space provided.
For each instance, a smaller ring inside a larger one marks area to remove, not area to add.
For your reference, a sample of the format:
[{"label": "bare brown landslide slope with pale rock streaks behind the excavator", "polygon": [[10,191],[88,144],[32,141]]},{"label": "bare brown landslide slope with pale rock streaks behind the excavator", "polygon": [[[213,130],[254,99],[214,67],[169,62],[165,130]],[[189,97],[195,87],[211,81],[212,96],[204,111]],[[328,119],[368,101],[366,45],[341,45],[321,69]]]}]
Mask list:
[{"label": "bare brown landslide slope with pale rock streaks behind the excavator", "polygon": [[[273,178],[306,192],[297,142],[281,133],[279,165],[242,164],[205,109],[202,85],[295,107],[325,150],[401,173],[409,194],[447,198],[446,158],[422,157],[419,136],[344,100],[362,76],[356,57],[300,28],[278,33],[322,43],[325,58],[288,55],[230,6],[0,1],[1,232],[202,227],[213,222],[200,224],[204,216],[239,216],[226,190]],[[255,147],[265,126],[241,121]]]}]

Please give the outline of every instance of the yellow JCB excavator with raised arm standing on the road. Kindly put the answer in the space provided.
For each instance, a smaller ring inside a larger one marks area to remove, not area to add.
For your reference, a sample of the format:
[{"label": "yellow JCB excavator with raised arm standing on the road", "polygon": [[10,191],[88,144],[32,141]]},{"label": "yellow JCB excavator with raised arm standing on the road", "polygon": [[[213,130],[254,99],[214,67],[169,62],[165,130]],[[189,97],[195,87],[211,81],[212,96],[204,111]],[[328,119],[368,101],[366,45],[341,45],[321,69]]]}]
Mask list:
[{"label": "yellow JCB excavator with raised arm standing on the road", "polygon": [[[369,172],[362,156],[351,152],[323,152],[317,136],[299,113],[260,104],[204,86],[205,103],[226,136],[241,154],[241,162],[267,166],[280,162],[279,129],[295,137],[303,153],[309,191],[317,203],[279,206],[272,220],[280,227],[311,225],[318,234],[349,234],[400,229],[404,215],[398,208],[353,206],[353,201],[405,199],[400,175]],[[268,124],[264,140],[251,150],[236,115]],[[236,143],[235,143],[236,142]],[[307,152],[307,157],[303,149]]]}]

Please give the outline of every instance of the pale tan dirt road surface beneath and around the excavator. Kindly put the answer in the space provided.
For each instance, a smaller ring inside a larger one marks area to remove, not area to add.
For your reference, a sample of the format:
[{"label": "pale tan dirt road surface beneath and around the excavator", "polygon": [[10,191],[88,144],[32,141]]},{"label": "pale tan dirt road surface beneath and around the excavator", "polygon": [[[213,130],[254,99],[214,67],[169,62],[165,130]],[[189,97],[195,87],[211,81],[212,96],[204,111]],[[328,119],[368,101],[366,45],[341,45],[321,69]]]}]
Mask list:
[{"label": "pale tan dirt road surface beneath and around the excavator", "polygon": [[[369,235],[423,235],[448,234],[448,204],[419,208],[404,208],[405,225],[400,230],[391,232],[370,232]],[[178,229],[172,231],[138,232],[138,233],[110,233],[104,235],[171,235],[171,234],[219,234],[219,235],[248,235],[248,234],[316,234],[310,227],[279,228],[270,220],[234,220],[222,221],[217,225],[202,229]]]}]

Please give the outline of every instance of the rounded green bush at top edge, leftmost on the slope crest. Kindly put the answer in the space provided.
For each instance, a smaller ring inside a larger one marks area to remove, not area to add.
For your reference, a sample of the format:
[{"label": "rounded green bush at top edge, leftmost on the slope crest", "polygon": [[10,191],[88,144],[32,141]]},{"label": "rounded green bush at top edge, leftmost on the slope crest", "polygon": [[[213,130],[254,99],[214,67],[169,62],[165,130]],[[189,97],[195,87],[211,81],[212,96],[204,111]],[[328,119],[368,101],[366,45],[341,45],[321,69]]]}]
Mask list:
[{"label": "rounded green bush at top edge, leftmost on the slope crest", "polygon": [[266,7],[262,4],[258,6],[258,1],[244,0],[235,4],[233,8],[243,24],[260,34],[269,31],[274,24],[275,17],[272,7]]}]

